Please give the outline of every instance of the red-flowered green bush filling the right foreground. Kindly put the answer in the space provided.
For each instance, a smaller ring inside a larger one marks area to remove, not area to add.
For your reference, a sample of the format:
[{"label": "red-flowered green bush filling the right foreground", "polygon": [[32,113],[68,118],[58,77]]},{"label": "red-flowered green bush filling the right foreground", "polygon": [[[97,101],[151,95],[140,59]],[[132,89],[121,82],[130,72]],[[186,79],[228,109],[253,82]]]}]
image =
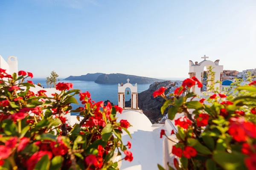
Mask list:
[{"label": "red-flowered green bush filling the right foreground", "polygon": [[[169,119],[184,114],[175,120],[179,142],[172,154],[177,170],[256,170],[256,81],[244,86],[237,82],[232,91],[214,91],[199,101],[191,92],[193,86],[202,86],[196,77],[186,79],[170,99],[164,91],[155,92],[166,99],[161,111],[168,109]],[[209,88],[214,89],[214,82]],[[169,135],[165,130],[160,133]]]}]

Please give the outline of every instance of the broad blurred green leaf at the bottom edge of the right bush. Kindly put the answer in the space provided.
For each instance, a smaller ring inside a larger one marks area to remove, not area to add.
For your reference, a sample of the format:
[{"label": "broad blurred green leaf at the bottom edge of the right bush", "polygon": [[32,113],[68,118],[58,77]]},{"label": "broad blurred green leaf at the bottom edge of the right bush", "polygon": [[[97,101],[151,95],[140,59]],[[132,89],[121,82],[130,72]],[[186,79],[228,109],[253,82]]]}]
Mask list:
[{"label": "broad blurred green leaf at the bottom edge of the right bush", "polygon": [[246,170],[244,158],[241,153],[227,153],[226,151],[215,150],[212,159],[219,164],[224,170]]}]

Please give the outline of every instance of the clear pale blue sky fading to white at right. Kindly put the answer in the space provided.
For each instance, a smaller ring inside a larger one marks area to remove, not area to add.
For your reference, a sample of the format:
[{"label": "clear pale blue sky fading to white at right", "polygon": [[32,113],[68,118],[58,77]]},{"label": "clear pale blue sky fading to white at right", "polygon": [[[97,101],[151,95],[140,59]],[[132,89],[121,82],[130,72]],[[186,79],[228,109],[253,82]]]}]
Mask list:
[{"label": "clear pale blue sky fading to white at right", "polygon": [[35,77],[188,77],[204,54],[256,67],[256,0],[0,0],[0,55]]}]

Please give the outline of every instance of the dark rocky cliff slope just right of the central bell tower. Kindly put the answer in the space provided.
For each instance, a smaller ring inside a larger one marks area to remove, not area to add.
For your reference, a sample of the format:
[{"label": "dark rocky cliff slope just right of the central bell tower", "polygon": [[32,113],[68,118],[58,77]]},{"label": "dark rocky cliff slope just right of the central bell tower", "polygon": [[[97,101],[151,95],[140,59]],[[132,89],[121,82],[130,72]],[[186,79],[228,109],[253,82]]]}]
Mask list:
[{"label": "dark rocky cliff slope just right of the central bell tower", "polygon": [[[166,87],[168,89],[166,89],[165,94],[168,94],[173,86],[175,86],[175,82],[171,81],[154,82],[149,86],[148,90],[138,94],[138,106],[152,123],[157,122],[159,118],[163,117],[161,107],[165,101],[160,96],[154,98],[153,92],[161,87]],[[131,107],[131,100],[125,102],[125,107]]]}]

